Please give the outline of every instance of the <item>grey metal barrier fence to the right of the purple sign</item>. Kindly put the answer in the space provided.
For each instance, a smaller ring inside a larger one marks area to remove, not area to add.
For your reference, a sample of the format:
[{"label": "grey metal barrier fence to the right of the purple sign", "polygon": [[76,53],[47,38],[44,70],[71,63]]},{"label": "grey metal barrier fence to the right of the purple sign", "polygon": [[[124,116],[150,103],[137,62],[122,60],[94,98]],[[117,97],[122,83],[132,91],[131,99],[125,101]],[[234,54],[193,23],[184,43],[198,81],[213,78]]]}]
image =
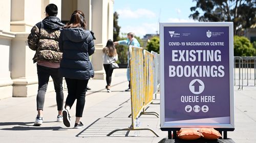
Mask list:
[{"label": "grey metal barrier fence to the right of the purple sign", "polygon": [[234,85],[239,86],[238,90],[256,85],[256,56],[234,56]]}]

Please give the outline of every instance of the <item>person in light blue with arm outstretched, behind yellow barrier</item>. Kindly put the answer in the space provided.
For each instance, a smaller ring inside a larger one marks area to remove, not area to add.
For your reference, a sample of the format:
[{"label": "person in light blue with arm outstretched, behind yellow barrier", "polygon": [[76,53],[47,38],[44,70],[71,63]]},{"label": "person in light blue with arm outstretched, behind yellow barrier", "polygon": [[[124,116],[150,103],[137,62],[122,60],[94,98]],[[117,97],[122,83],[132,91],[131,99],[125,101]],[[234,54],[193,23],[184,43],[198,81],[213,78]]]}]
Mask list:
[{"label": "person in light blue with arm outstretched, behind yellow barrier", "polygon": [[[127,40],[120,40],[120,41],[116,41],[114,42],[115,45],[121,44],[121,45],[127,45],[128,48],[130,45],[132,46],[136,46],[136,47],[140,47],[140,43],[139,41],[134,37],[134,33],[130,32],[127,34]],[[128,49],[127,52],[127,71],[126,71],[126,76],[127,76],[127,80],[129,81],[129,88],[125,91],[131,91],[131,77],[130,77],[130,52]]]}]

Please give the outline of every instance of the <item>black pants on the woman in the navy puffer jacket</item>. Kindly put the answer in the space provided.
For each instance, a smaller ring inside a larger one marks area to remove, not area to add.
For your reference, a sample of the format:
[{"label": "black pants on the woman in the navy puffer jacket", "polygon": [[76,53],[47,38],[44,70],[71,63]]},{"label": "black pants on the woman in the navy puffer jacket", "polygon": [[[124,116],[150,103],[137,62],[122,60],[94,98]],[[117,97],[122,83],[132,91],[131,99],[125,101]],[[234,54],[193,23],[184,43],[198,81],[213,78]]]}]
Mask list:
[{"label": "black pants on the woman in the navy puffer jacket", "polygon": [[68,87],[68,97],[66,99],[66,106],[72,107],[76,100],[76,117],[82,117],[84,104],[86,103],[86,90],[89,79],[79,80],[65,78]]}]

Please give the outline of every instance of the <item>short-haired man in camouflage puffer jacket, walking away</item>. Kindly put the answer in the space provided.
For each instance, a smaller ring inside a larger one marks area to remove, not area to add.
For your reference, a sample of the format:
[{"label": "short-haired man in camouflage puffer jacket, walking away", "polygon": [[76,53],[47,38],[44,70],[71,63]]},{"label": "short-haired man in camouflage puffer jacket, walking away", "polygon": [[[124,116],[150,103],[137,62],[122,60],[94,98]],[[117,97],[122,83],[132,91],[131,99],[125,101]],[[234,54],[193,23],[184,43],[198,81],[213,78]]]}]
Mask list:
[{"label": "short-haired man in camouflage puffer jacket, walking away", "polygon": [[63,78],[59,74],[62,52],[59,50],[58,39],[60,29],[64,24],[56,17],[57,13],[58,8],[56,5],[47,5],[45,12],[46,18],[34,25],[28,36],[29,48],[36,51],[33,62],[37,63],[38,92],[36,96],[37,116],[34,123],[35,126],[42,125],[44,120],[45,94],[50,76],[53,79],[56,92],[57,122],[62,122]]}]

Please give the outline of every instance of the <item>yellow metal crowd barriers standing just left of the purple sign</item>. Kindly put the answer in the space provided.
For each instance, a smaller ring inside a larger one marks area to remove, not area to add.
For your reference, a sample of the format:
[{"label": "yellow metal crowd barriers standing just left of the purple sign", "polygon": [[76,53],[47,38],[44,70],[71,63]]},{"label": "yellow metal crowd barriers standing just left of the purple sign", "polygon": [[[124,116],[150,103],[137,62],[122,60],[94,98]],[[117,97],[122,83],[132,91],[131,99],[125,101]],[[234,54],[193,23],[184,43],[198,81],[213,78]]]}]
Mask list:
[{"label": "yellow metal crowd barriers standing just left of the purple sign", "polygon": [[[154,55],[143,51],[141,47],[130,46],[131,54],[131,116],[132,125],[130,128],[116,129],[107,134],[110,136],[116,131],[149,130],[157,137],[157,133],[150,128],[136,128],[135,121],[142,114],[155,115],[156,112],[145,112],[145,107],[153,101],[153,59]],[[157,113],[156,113],[157,114]],[[158,115],[158,114],[157,114]],[[155,115],[155,116],[157,116]]]}]

